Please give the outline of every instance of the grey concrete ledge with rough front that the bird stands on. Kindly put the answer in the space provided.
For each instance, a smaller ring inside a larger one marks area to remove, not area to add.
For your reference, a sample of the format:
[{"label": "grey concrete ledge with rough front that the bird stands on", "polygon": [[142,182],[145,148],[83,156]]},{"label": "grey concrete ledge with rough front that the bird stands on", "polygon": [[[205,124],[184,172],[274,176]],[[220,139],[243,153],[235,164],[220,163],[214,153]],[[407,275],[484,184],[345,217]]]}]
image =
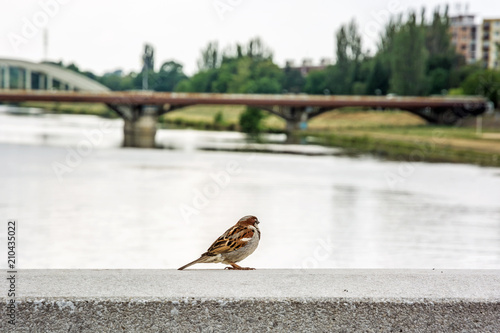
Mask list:
[{"label": "grey concrete ledge with rough front that the bird stands on", "polygon": [[500,332],[500,271],[22,270],[16,302],[1,332]]}]

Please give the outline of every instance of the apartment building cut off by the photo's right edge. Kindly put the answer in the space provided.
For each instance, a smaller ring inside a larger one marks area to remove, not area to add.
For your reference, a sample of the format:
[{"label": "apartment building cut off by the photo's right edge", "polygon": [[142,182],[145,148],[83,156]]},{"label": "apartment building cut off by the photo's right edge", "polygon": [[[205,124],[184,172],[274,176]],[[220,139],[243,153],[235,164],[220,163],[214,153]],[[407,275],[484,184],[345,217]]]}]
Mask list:
[{"label": "apartment building cut off by the photo's right edge", "polygon": [[500,19],[483,20],[481,44],[485,66],[500,69]]}]

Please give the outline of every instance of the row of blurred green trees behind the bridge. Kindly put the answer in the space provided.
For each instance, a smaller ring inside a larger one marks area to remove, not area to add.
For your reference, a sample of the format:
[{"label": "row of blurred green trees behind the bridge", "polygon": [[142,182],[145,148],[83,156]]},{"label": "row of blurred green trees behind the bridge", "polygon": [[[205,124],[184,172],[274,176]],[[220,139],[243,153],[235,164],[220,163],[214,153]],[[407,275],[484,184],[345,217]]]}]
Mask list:
[{"label": "row of blurred green trees behind the bridge", "polygon": [[[146,46],[140,72],[122,71],[97,76],[84,74],[112,90],[134,90],[146,86],[155,91],[412,95],[482,94],[498,105],[500,72],[484,69],[480,62],[466,64],[451,44],[448,8],[436,8],[431,18],[426,10],[390,18],[374,54],[363,49],[363,38],[355,20],[335,34],[336,62],[303,76],[300,69],[280,68],[273,52],[260,38],[224,49],[217,41],[200,52],[198,71],[188,77],[176,61],[154,67],[154,51]],[[69,68],[79,71],[74,65]]]}]

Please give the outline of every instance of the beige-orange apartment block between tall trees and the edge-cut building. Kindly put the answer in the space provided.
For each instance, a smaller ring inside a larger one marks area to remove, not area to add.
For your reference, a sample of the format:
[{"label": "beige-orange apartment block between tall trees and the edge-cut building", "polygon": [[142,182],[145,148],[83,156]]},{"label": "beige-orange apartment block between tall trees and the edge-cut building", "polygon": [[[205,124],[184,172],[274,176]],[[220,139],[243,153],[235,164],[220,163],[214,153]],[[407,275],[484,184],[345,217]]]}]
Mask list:
[{"label": "beige-orange apartment block between tall trees and the edge-cut building", "polygon": [[480,27],[474,22],[474,15],[451,17],[451,43],[468,64],[475,63],[480,56]]}]

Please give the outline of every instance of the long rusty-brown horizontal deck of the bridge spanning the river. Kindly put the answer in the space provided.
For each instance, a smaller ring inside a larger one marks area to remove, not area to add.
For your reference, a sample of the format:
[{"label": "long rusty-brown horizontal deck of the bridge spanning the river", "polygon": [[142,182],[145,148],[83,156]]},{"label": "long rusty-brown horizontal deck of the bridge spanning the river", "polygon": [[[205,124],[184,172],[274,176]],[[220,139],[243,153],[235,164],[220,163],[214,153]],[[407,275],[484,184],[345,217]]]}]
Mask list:
[{"label": "long rusty-brown horizontal deck of the bridge spanning the river", "polygon": [[450,108],[485,109],[482,97],[392,97],[392,96],[319,96],[319,95],[252,95],[163,93],[148,91],[127,92],[68,92],[46,90],[0,90],[0,102],[83,102],[125,105],[248,105],[340,108]]}]

